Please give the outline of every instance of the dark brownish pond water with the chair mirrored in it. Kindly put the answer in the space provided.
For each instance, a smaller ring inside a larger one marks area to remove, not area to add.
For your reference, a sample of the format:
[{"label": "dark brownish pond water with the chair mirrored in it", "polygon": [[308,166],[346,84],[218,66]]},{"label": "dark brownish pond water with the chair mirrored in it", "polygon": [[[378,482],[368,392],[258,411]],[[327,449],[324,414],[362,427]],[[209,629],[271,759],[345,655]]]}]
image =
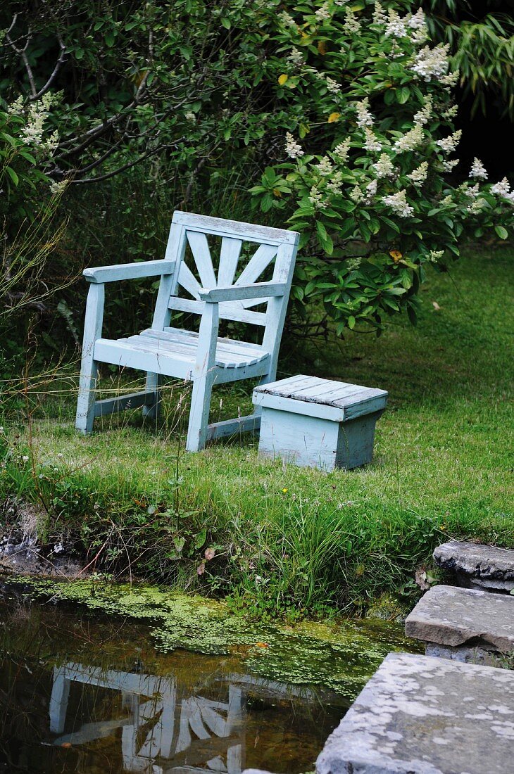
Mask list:
[{"label": "dark brownish pond water with the chair mirrored in it", "polygon": [[307,680],[296,663],[290,683],[274,676],[283,670],[273,659],[259,666],[252,655],[268,655],[267,642],[202,654],[163,647],[148,620],[34,599],[12,584],[2,587],[0,619],[0,772],[300,774],[314,769],[365,682],[360,673],[335,690],[313,683],[313,642],[327,662],[338,649],[312,635],[293,637],[310,647]]}]

